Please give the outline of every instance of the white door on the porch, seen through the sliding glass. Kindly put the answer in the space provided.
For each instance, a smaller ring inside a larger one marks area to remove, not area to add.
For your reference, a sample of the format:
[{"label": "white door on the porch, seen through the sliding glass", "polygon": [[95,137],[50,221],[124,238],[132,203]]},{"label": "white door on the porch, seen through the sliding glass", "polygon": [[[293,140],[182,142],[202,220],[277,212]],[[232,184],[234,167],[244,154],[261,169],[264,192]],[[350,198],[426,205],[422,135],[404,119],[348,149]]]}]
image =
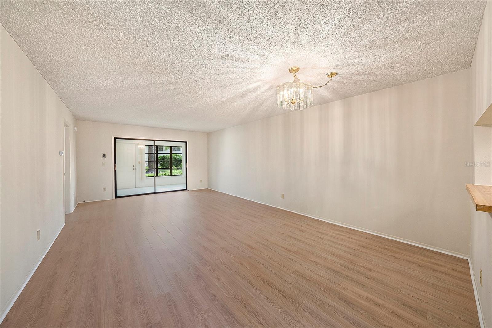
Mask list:
[{"label": "white door on the porch, seen through the sliding glass", "polygon": [[116,144],[116,187],[135,188],[135,144]]}]

